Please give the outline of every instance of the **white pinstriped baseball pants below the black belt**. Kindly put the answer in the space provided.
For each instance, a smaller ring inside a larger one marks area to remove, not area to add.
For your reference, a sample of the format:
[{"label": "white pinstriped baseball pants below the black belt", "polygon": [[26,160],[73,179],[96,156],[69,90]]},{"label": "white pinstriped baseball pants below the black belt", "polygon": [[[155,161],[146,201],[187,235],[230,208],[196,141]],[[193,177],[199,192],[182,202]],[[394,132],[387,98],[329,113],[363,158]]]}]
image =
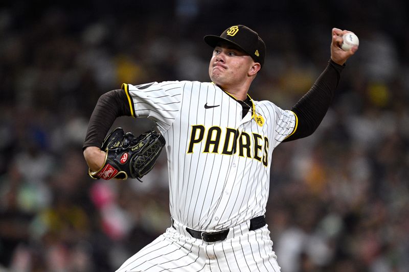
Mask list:
[{"label": "white pinstriped baseball pants below the black belt", "polygon": [[184,226],[164,234],[129,258],[117,272],[125,271],[243,271],[278,272],[277,256],[267,226],[248,231],[246,222],[231,228],[223,242],[207,243],[184,234]]}]

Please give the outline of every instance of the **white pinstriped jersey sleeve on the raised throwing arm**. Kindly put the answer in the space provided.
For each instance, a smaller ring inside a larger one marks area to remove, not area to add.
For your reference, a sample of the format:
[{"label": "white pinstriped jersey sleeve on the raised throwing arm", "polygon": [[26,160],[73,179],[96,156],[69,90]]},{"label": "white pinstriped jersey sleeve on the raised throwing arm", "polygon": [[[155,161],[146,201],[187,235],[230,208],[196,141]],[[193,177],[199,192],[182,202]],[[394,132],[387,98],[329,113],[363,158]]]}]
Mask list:
[{"label": "white pinstriped jersey sleeve on the raised throwing arm", "polygon": [[292,135],[297,130],[298,119],[297,115],[290,110],[283,110],[273,104],[274,109],[274,144],[273,147],[279,145],[285,138]]}]

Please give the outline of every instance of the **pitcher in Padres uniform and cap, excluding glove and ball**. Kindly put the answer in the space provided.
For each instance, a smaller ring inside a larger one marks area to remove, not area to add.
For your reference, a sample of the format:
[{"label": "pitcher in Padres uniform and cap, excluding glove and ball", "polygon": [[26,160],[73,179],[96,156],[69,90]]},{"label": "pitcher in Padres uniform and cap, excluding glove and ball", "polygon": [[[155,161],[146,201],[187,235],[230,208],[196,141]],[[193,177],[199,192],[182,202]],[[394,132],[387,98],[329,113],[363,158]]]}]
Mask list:
[{"label": "pitcher in Padres uniform and cap, excluding glove and ball", "polygon": [[212,82],[123,84],[99,98],[84,143],[92,171],[103,165],[101,143],[123,115],[154,120],[168,158],[172,226],[117,271],[280,271],[264,218],[271,154],[319,126],[357,50],[341,50],[345,33],[332,29],[327,67],[291,110],[248,95],[266,48],[242,25],[205,36],[214,48]]}]

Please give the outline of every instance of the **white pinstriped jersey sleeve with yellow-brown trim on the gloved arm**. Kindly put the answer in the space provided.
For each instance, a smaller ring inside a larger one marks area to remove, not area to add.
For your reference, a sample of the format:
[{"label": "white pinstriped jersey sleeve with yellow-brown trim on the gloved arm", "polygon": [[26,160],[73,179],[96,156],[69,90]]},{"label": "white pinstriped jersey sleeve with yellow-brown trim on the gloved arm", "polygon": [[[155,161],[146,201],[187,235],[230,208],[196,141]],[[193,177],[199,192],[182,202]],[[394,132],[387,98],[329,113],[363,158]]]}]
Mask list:
[{"label": "white pinstriped jersey sleeve with yellow-brown trim on the gloved arm", "polygon": [[180,111],[182,90],[180,82],[152,82],[142,85],[122,84],[132,116],[147,117],[167,131]]}]

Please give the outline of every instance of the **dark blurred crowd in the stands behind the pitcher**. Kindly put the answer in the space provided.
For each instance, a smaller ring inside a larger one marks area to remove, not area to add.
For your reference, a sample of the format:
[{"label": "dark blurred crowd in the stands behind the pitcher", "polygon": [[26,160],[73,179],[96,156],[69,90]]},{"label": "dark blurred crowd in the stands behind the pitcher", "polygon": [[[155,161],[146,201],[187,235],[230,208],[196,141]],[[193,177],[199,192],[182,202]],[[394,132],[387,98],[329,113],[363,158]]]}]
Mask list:
[{"label": "dark blurred crowd in the stands behind the pitcher", "polygon": [[284,109],[326,67],[333,27],[360,38],[319,129],[273,153],[282,271],[409,271],[408,3],[2,1],[0,271],[113,271],[170,226],[165,154],[143,183],[92,180],[88,118],[123,82],[209,81],[202,37],[234,24],[267,45],[249,93]]}]

